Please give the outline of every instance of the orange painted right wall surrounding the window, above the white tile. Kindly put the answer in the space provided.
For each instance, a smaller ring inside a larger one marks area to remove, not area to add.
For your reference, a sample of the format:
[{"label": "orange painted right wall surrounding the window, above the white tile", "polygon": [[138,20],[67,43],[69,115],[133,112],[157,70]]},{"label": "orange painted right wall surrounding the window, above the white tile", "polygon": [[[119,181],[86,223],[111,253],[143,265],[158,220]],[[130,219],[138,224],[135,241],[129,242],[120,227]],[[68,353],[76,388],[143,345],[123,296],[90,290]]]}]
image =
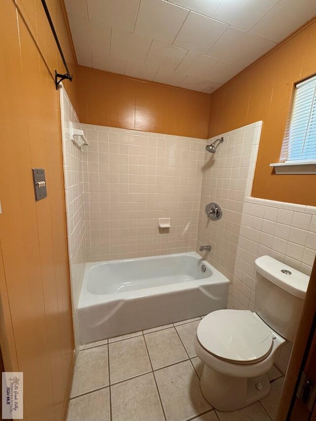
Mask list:
[{"label": "orange painted right wall surrounding the window, above the white tile", "polygon": [[316,19],[211,95],[208,137],[263,120],[252,196],[316,206],[316,175],[276,175],[294,83],[316,73]]}]

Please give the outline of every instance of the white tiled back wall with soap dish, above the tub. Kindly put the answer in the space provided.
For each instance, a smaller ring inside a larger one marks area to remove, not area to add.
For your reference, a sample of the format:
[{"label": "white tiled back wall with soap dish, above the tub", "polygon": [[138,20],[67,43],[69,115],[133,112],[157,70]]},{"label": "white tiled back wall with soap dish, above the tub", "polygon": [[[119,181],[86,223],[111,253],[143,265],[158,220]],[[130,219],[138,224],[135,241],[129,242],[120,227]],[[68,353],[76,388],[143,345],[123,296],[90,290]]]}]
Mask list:
[{"label": "white tiled back wall with soap dish, above the tub", "polygon": [[[89,261],[195,249],[205,140],[82,124]],[[158,218],[171,218],[159,230]]]}]

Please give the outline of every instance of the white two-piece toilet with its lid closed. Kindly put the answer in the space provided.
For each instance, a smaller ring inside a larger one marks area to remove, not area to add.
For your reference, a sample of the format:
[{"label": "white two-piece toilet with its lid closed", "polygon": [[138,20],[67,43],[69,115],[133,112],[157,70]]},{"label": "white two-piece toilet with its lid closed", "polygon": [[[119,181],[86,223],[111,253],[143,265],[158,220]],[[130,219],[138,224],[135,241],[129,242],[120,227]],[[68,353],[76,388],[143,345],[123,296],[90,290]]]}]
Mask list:
[{"label": "white two-piece toilet with its lid closed", "polygon": [[309,277],[277,260],[256,259],[255,312],[217,310],[199,323],[195,349],[204,363],[200,386],[220,411],[234,411],[270,391],[276,351],[293,341]]}]

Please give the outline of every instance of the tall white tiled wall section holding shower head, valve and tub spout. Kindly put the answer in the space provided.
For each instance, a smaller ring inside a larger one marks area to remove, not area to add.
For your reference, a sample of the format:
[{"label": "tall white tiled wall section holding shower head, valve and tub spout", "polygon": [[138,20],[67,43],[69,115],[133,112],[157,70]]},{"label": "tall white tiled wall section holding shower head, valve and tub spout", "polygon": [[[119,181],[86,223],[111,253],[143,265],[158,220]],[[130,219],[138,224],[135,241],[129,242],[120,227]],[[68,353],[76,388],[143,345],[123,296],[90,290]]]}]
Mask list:
[{"label": "tall white tiled wall section holding shower head, valve and tub spout", "polygon": [[[262,121],[207,140],[223,137],[216,153],[204,153],[201,202],[196,251],[211,265],[233,280],[238,234],[245,194],[251,191]],[[211,221],[205,213],[209,202],[217,202],[223,218]],[[200,244],[211,244],[212,251],[200,253]]]}]

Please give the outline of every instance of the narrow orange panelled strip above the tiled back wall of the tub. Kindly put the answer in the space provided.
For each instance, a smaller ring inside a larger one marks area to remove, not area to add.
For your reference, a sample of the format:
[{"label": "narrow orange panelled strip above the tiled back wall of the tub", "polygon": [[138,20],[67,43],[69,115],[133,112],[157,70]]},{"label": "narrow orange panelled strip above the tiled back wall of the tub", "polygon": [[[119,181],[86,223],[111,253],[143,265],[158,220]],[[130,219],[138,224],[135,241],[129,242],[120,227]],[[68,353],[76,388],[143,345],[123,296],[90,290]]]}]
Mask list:
[{"label": "narrow orange panelled strip above the tiled back wall of the tub", "polygon": [[78,67],[82,123],[206,139],[210,96]]}]

